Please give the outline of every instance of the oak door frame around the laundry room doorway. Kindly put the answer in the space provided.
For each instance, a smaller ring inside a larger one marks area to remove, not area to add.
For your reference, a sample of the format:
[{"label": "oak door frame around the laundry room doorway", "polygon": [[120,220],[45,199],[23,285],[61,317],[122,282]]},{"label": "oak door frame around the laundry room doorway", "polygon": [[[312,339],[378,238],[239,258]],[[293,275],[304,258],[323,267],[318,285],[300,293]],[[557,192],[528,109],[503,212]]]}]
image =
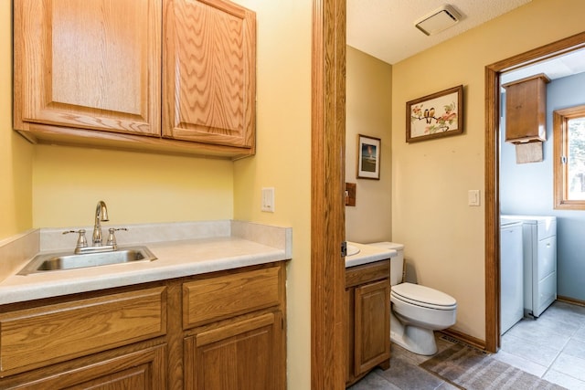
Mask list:
[{"label": "oak door frame around the laundry room doorway", "polygon": [[500,74],[585,47],[585,33],[485,67],[485,348],[500,347]]}]

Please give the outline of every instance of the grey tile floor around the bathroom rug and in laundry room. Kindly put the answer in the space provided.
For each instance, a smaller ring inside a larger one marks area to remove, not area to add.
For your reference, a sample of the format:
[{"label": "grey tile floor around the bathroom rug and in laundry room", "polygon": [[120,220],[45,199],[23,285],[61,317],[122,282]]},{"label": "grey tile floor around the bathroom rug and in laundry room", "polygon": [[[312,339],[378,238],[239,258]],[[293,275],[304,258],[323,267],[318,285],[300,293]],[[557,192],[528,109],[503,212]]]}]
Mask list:
[{"label": "grey tile floor around the bathroom rug and in laundry room", "polygon": [[[441,352],[452,343],[437,334]],[[571,390],[585,390],[585,307],[556,301],[537,320],[504,334],[495,358]],[[454,390],[419,367],[429,359],[392,344],[390,368],[373,370],[350,390]]]}]

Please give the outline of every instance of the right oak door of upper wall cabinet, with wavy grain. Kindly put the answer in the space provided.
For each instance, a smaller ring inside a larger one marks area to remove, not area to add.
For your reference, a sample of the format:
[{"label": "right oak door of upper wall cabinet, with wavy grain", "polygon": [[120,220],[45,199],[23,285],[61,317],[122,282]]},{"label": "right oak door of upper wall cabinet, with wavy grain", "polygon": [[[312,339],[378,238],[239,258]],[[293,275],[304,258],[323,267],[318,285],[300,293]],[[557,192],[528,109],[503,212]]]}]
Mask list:
[{"label": "right oak door of upper wall cabinet, with wavy grain", "polygon": [[222,0],[167,0],[164,137],[254,148],[255,17]]}]

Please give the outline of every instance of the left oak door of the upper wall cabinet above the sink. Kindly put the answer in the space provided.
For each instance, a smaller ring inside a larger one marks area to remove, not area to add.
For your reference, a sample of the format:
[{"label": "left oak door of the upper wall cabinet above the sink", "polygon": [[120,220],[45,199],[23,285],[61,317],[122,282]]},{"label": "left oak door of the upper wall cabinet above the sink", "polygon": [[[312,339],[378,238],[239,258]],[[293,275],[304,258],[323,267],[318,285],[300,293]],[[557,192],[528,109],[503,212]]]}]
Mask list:
[{"label": "left oak door of the upper wall cabinet above the sink", "polygon": [[161,0],[16,1],[16,130],[160,136],[161,12]]}]

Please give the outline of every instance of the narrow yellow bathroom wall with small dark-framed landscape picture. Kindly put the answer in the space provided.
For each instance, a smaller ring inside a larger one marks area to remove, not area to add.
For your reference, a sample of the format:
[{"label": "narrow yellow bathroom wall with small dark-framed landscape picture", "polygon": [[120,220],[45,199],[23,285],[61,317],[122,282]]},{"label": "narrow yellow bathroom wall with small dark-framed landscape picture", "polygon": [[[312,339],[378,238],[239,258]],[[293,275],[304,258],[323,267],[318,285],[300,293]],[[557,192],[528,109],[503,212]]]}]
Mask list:
[{"label": "narrow yellow bathroom wall with small dark-framed landscape picture", "polygon": [[[346,183],[356,184],[356,206],[346,206],[346,239],[388,241],[392,237],[392,67],[347,47]],[[357,134],[380,139],[380,180],[356,178]]]}]

